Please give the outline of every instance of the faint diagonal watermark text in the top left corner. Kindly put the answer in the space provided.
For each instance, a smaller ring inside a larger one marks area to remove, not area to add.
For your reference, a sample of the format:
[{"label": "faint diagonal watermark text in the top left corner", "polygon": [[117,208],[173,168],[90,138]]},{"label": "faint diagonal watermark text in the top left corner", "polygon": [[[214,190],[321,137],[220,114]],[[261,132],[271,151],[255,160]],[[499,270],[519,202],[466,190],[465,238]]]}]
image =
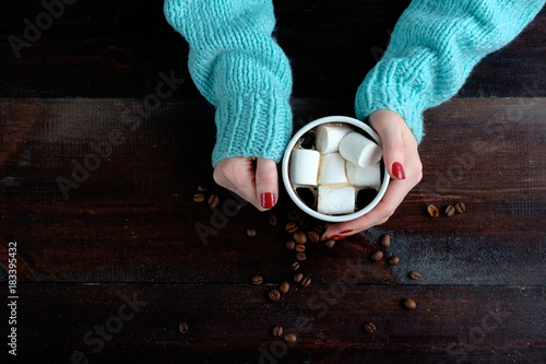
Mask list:
[{"label": "faint diagonal watermark text in the top left corner", "polygon": [[43,32],[54,25],[54,20],[58,20],[64,14],[66,5],[72,5],[75,2],[76,0],[43,0],[41,5],[45,11],[36,15],[34,23],[28,17],[23,19],[25,25],[23,39],[14,35],[10,35],[8,38],[15,57],[20,59],[21,50],[29,48],[34,43],[38,42]]}]

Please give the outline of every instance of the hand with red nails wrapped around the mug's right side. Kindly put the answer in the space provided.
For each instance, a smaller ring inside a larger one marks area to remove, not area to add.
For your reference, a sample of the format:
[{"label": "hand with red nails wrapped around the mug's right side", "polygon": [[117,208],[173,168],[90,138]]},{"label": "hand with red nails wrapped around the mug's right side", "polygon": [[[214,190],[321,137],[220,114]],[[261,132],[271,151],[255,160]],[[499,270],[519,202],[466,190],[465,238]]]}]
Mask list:
[{"label": "hand with red nails wrapped around the mug's right side", "polygon": [[328,238],[341,239],[385,223],[407,192],[423,177],[417,141],[404,119],[391,110],[377,110],[370,115],[369,120],[381,138],[383,161],[391,176],[389,187],[381,201],[370,212],[358,219],[330,226],[325,232]]}]

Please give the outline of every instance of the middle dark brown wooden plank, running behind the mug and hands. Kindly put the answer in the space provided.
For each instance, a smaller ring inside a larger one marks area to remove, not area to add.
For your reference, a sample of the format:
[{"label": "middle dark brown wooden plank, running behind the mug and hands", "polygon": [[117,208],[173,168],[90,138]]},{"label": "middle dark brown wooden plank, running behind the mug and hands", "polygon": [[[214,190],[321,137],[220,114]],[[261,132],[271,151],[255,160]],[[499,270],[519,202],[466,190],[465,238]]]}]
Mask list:
[{"label": "middle dark brown wooden plank, running behind the mug and hands", "polygon": [[[294,208],[286,193],[272,213],[246,207],[215,235],[200,238],[195,224],[213,226],[213,211],[193,202],[199,184],[214,186],[210,165],[213,108],[205,103],[165,102],[140,127],[123,124],[139,99],[0,101],[0,236],[19,242],[24,281],[248,282],[290,277],[293,253],[283,226]],[[324,115],[351,115],[351,105],[295,101],[296,125]],[[544,98],[453,99],[427,113],[420,145],[425,177],[383,226],[328,250],[309,248],[305,267],[319,282],[333,282],[345,259],[367,257],[381,234],[401,263],[366,265],[367,283],[412,283],[419,270],[429,284],[545,284],[546,161]],[[127,139],[109,160],[69,191],[56,179],[72,178],[72,161],[84,164],[91,143],[120,129]],[[283,190],[283,188],[282,188]],[[432,220],[428,203],[464,201],[467,211]],[[222,208],[222,204],[221,207]],[[222,224],[221,224],[222,225]],[[258,236],[249,238],[246,230]],[[7,265],[5,255],[1,258]],[[368,261],[368,260],[367,260]],[[3,273],[5,274],[5,272]],[[2,280],[5,280],[3,275]]]}]

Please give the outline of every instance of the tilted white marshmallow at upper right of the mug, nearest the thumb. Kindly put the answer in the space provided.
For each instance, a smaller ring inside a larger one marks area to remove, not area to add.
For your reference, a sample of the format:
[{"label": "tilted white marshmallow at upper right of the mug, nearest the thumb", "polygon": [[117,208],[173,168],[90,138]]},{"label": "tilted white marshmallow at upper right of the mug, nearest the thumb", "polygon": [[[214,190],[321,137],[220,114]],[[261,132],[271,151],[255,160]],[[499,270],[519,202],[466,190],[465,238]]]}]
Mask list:
[{"label": "tilted white marshmallow at upper right of the mug, nearest the thumb", "polygon": [[346,134],[340,143],[340,154],[361,168],[381,160],[381,146],[358,132]]}]

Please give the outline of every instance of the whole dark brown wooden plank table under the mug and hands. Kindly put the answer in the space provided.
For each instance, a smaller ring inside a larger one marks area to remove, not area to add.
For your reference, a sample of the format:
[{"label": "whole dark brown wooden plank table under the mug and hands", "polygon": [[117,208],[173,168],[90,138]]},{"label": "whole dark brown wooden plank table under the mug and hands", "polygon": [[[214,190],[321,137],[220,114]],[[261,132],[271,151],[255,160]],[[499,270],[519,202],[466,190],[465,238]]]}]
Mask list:
[{"label": "whole dark brown wooden plank table under the mug and hands", "polygon": [[[296,130],[354,115],[355,90],[407,3],[275,3]],[[424,179],[395,214],[332,249],[308,243],[311,285],[272,302],[294,274],[284,231],[294,204],[282,189],[271,212],[234,209],[213,183],[214,109],[162,4],[66,5],[20,58],[10,36],[45,8],[1,7],[1,363],[546,362],[546,10],[426,113]],[[185,82],[143,114],[161,72]],[[217,210],[193,201],[199,185],[219,196]],[[459,201],[462,214],[425,211]],[[202,238],[205,225],[215,233]],[[384,233],[399,266],[370,260]],[[19,298],[9,298],[10,242]],[[274,338],[275,325],[298,342]]]}]

